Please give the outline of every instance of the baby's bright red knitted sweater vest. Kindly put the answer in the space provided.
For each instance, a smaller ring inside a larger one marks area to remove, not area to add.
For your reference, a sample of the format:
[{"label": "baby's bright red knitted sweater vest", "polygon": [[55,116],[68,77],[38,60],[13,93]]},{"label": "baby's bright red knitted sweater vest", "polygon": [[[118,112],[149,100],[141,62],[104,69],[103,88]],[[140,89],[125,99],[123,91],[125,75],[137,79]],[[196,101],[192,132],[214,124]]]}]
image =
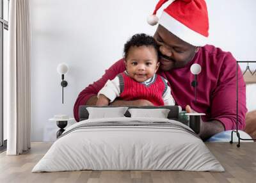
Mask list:
[{"label": "baby's bright red knitted sweater vest", "polygon": [[164,79],[156,74],[156,79],[146,86],[143,83],[134,81],[124,72],[118,75],[120,80],[120,99],[138,100],[145,99],[154,104],[154,106],[164,106],[163,93],[167,89],[167,83]]}]

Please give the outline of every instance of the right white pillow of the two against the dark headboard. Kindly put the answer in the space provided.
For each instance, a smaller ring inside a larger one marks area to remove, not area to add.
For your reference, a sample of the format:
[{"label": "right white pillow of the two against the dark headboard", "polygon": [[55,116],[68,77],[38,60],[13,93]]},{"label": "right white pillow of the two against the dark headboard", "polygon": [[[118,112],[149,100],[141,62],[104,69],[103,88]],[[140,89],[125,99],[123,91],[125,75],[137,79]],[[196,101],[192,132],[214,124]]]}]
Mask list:
[{"label": "right white pillow of the two against the dark headboard", "polygon": [[170,109],[128,109],[131,113],[131,118],[134,117],[145,117],[145,118],[167,118]]}]

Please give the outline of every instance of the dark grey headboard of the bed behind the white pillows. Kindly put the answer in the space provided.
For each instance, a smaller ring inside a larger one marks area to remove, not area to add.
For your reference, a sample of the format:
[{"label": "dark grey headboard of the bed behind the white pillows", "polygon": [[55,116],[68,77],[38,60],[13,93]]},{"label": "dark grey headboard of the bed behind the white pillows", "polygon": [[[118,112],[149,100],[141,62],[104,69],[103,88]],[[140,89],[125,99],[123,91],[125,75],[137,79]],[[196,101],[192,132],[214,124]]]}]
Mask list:
[{"label": "dark grey headboard of the bed behind the white pillows", "polygon": [[[82,120],[87,120],[89,113],[86,107],[97,107],[97,106],[79,106],[79,122]],[[104,106],[104,107],[122,107],[122,106]],[[125,106],[126,107],[126,106]],[[181,111],[180,106],[127,106],[129,109],[131,108],[140,108],[140,109],[170,109],[167,118],[170,120],[179,121],[179,113]],[[131,114],[127,110],[124,114],[126,117],[131,117]]]}]

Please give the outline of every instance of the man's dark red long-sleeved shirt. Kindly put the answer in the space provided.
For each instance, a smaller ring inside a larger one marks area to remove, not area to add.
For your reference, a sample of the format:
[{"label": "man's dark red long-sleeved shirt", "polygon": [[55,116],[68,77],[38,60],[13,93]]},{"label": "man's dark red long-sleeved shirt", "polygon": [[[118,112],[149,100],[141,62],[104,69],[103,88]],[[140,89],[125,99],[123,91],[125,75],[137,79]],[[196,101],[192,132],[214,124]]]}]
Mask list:
[{"label": "man's dark red long-sleeved shirt", "polygon": [[[198,63],[202,71],[198,74],[197,97],[195,104],[195,88],[191,82],[195,79],[190,72],[193,63]],[[112,65],[98,81],[90,84],[79,93],[74,104],[74,116],[79,120],[79,106],[85,105],[90,97],[97,95],[108,79],[124,72],[124,60]],[[205,122],[218,120],[225,126],[225,130],[236,129],[236,60],[230,52],[221,51],[212,45],[200,47],[195,57],[184,68],[171,71],[158,70],[170,83],[173,98],[182,109],[186,105],[198,113],[205,113]],[[245,83],[243,74],[238,69],[238,128],[244,129],[246,109]]]}]

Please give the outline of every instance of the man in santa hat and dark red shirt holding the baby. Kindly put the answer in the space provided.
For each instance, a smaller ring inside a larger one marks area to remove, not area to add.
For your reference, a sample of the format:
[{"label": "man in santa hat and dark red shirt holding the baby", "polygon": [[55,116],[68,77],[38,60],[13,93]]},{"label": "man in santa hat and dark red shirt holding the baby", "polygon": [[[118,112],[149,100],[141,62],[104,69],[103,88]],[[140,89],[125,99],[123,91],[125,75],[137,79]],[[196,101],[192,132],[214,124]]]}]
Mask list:
[{"label": "man in santa hat and dark red shirt holding the baby", "polygon": [[[204,0],[175,0],[156,17],[157,10],[167,0],[159,1],[148,23],[158,27],[154,38],[159,45],[160,69],[158,74],[168,80],[177,105],[191,112],[205,113],[202,117],[200,137],[207,139],[218,132],[236,129],[236,60],[230,52],[206,45],[209,30],[207,6]],[[197,63],[198,74],[195,102],[191,65]],[[95,105],[97,93],[108,79],[124,72],[124,59],[112,65],[101,79],[79,93],[74,105],[78,120],[81,105]],[[238,69],[238,129],[244,129],[246,109],[245,83]],[[112,105],[151,105],[147,100],[115,100]]]}]

